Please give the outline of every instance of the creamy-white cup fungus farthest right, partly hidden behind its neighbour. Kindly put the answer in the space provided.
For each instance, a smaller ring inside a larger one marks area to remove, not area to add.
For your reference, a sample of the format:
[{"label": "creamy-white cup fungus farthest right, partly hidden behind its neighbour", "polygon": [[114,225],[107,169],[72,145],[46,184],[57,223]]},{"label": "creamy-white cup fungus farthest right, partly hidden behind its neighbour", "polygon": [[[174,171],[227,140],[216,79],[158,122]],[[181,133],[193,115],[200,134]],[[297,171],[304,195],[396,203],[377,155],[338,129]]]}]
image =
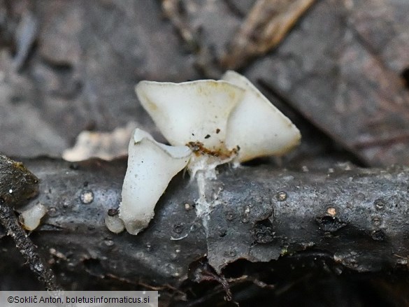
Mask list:
[{"label": "creamy-white cup fungus farthest right, partly hidden behind its neighbour", "polygon": [[299,145],[299,129],[261,94],[247,78],[235,71],[227,71],[222,80],[245,90],[243,99],[232,110],[225,144],[228,149],[238,145],[238,161],[257,157],[280,156]]}]

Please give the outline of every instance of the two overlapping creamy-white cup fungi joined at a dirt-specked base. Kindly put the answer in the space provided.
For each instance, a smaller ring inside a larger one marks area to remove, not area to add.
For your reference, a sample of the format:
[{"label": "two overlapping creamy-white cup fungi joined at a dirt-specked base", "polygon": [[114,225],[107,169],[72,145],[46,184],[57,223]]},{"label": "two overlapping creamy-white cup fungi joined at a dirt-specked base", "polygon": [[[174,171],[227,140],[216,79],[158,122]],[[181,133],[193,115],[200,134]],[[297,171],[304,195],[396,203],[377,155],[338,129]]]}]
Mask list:
[{"label": "two overlapping creamy-white cup fungi joined at a dirt-specked base", "polygon": [[[245,162],[284,155],[301,140],[291,120],[234,71],[222,80],[141,81],[136,94],[169,143],[200,144],[206,149],[203,155],[220,157],[220,164],[231,161],[229,157]],[[199,160],[192,159],[191,173],[201,168]],[[213,158],[208,160],[215,165]]]}]

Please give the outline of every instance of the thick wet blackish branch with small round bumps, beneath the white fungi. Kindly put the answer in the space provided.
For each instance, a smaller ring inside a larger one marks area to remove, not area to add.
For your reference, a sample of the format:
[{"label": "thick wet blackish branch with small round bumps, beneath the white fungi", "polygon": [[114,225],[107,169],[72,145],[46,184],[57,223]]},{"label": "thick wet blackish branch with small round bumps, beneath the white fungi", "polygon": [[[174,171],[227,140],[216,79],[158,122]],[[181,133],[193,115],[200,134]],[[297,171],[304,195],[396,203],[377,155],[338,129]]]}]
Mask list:
[{"label": "thick wet blackish branch with small round bumps, beneath the white fungi", "polygon": [[[194,210],[196,183],[180,174],[157,204],[148,229],[131,236],[113,234],[104,224],[108,210],[119,206],[126,160],[24,163],[41,179],[31,204],[48,207],[31,238],[64,273],[59,275],[63,282],[67,273],[87,271],[99,278],[178,287],[189,266],[192,273],[206,258],[216,273],[238,259],[271,263],[305,254],[358,272],[407,264],[408,167],[343,164],[301,172],[266,165],[226,167],[209,185],[208,194],[220,204],[208,215],[207,230]],[[90,193],[85,201],[82,196]],[[0,259],[8,257],[9,252],[0,253]]]}]

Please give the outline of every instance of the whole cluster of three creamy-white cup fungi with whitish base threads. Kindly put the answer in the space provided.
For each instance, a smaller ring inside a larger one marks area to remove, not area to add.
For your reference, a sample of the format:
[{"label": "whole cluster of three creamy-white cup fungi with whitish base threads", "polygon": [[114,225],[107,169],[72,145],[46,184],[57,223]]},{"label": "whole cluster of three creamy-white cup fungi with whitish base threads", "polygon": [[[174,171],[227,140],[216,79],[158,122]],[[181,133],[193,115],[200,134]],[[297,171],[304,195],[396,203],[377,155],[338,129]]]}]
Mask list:
[{"label": "whole cluster of three creamy-white cup fungi with whitish base threads", "polygon": [[169,181],[185,167],[198,180],[196,212],[203,215],[211,208],[204,196],[206,180],[216,177],[217,165],[284,155],[301,140],[299,129],[234,71],[222,80],[141,81],[136,94],[173,146],[155,142],[140,129],[131,139],[120,205],[120,218],[131,234],[148,226]]}]

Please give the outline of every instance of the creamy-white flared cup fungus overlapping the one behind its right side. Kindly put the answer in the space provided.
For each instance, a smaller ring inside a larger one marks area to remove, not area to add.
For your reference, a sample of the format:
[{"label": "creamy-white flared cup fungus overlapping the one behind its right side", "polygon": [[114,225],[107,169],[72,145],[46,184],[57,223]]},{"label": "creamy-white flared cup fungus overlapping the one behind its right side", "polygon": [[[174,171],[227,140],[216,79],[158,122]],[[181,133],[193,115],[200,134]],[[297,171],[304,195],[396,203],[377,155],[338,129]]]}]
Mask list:
[{"label": "creamy-white flared cup fungus overlapping the one behind its right side", "polygon": [[227,119],[245,93],[226,81],[197,80],[141,81],[136,94],[169,143],[200,142],[208,150],[223,152]]}]

